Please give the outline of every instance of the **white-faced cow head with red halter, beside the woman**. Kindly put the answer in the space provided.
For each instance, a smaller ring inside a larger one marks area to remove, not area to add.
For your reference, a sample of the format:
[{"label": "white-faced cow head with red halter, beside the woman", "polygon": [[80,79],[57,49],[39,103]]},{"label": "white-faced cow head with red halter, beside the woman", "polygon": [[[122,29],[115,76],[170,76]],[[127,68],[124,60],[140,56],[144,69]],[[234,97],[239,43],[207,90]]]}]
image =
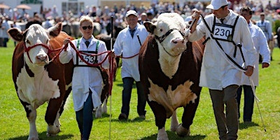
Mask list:
[{"label": "white-faced cow head with red halter, beside the woman", "polygon": [[18,28],[8,30],[8,34],[15,41],[23,41],[25,48],[25,60],[27,64],[43,66],[49,63],[48,52],[50,52],[50,38],[57,36],[62,30],[62,23],[59,22],[54,27],[44,29],[41,25],[31,25],[25,31]]}]

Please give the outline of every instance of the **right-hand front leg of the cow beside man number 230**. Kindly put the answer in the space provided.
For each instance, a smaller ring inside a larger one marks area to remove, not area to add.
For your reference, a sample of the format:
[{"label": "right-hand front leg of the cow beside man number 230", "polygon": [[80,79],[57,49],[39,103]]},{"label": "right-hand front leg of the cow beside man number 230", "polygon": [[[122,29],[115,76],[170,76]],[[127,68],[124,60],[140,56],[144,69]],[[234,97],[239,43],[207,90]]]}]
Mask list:
[{"label": "right-hand front leg of the cow beside man number 230", "polygon": [[193,118],[195,118],[195,112],[197,111],[197,106],[200,102],[200,95],[197,95],[195,103],[190,102],[184,108],[182,116],[182,124],[179,125],[176,132],[180,137],[185,137],[190,135],[190,125],[193,124]]}]

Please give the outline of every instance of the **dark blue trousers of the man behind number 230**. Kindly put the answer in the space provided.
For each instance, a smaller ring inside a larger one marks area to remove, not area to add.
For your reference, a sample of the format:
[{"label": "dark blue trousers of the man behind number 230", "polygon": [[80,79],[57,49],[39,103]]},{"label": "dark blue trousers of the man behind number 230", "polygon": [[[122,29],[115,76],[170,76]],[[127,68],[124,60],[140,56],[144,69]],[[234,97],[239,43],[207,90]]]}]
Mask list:
[{"label": "dark blue trousers of the man behind number 230", "polygon": [[244,122],[251,122],[253,115],[253,104],[254,104],[254,96],[251,85],[241,85],[237,90],[237,102],[238,102],[238,118],[240,118],[240,99],[242,93],[242,87],[244,90],[244,113],[243,120]]}]

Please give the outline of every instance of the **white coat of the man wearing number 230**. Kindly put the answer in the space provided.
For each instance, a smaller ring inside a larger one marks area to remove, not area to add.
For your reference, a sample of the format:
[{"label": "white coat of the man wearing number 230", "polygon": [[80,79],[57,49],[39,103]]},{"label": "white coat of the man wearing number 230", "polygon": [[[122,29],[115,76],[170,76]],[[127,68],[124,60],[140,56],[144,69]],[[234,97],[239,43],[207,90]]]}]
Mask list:
[{"label": "white coat of the man wearing number 230", "polygon": [[[234,25],[236,18],[237,13],[233,13],[232,10],[230,10],[228,16],[225,17],[225,24]],[[211,29],[214,24],[214,14],[207,15],[205,20]],[[217,18],[216,22],[221,23],[221,21]],[[225,51],[223,52],[210,35],[211,33],[209,29],[207,29],[206,25],[204,25],[204,22],[200,22],[200,25],[197,25],[193,34],[190,34],[189,36],[190,41],[197,41],[203,36],[206,36],[206,38],[210,37],[209,41],[206,43],[202,59],[200,86],[209,87],[211,90],[223,90],[223,88],[228,87],[228,85],[241,85],[241,75],[243,71],[237,69],[237,66],[235,66],[235,64],[233,64],[230,59],[225,56],[225,53],[227,53],[235,60],[235,62],[242,66],[244,61],[241,57],[241,52],[237,48],[237,55],[236,57],[233,57],[235,45],[228,41],[218,41],[221,43],[221,46]],[[237,21],[232,40],[235,41],[236,44],[243,44],[242,47],[247,50],[246,54],[244,54],[247,56],[246,66],[254,66],[255,59],[257,58],[257,52],[253,46],[248,24],[241,16]]]}]

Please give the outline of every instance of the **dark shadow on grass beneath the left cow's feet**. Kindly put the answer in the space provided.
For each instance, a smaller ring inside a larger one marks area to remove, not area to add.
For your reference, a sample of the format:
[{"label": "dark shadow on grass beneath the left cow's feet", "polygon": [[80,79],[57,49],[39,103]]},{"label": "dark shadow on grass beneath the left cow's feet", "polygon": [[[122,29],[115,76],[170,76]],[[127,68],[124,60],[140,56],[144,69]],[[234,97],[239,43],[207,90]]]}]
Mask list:
[{"label": "dark shadow on grass beneath the left cow's feet", "polygon": [[[52,140],[60,140],[60,139],[71,139],[73,137],[73,134],[64,134],[64,135],[57,135],[53,137],[47,137],[47,132],[41,132],[38,134],[39,139],[44,140],[44,139],[52,139]],[[9,140],[22,140],[22,139],[28,139],[27,136],[20,136],[20,137],[15,137],[15,138],[10,138]]]}]

